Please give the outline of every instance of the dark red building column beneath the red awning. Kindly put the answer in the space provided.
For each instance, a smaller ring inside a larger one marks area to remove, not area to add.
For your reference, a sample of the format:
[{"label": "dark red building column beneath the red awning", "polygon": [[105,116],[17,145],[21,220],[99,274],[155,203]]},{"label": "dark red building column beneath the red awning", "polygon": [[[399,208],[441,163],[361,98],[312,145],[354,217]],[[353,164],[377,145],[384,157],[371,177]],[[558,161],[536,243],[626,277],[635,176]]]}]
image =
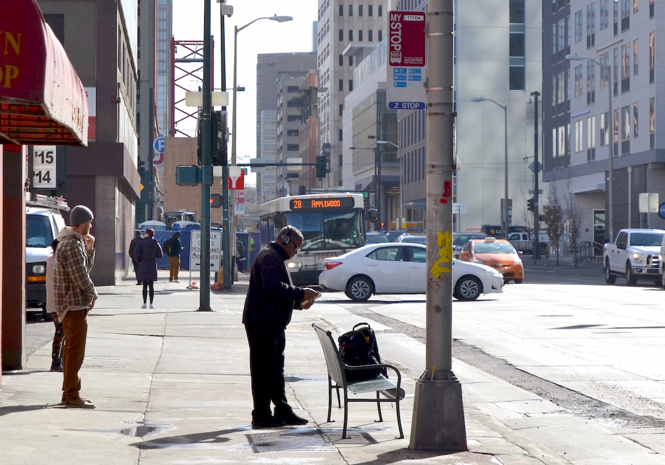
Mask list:
[{"label": "dark red building column beneath the red awning", "polygon": [[25,151],[4,145],[2,178],[2,365],[23,369],[25,355]]}]

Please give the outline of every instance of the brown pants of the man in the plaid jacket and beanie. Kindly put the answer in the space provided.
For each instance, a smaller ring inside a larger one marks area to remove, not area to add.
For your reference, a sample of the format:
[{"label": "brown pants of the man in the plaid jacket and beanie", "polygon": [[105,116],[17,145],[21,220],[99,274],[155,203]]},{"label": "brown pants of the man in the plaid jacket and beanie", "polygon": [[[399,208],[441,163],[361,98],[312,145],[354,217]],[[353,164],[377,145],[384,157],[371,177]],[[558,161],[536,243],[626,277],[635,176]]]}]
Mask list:
[{"label": "brown pants of the man in the plaid jacket and beanie", "polygon": [[83,365],[85,342],[88,335],[88,310],[70,310],[63,320],[65,346],[63,347],[63,402],[80,398],[81,377],[78,371]]}]

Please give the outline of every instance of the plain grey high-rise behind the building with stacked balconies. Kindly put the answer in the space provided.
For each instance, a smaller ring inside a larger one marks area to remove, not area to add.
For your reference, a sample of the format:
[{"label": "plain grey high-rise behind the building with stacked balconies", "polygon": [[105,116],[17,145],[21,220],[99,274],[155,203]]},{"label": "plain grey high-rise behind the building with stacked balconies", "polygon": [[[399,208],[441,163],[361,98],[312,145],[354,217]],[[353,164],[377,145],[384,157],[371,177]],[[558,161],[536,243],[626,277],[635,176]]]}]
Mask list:
[{"label": "plain grey high-rise behind the building with stacked balconies", "polygon": [[[289,77],[307,76],[310,70],[316,69],[316,52],[294,52],[294,53],[265,53],[259,54],[256,66],[256,153],[257,158],[251,163],[277,163],[278,162],[278,124],[281,122],[277,117],[278,100],[280,98],[280,83],[288,82]],[[298,96],[298,84],[293,82],[287,84],[287,97],[285,103],[289,102],[289,86],[293,87],[291,95]],[[282,117],[287,118],[289,128],[299,128],[301,116],[298,112],[282,112]],[[291,118],[291,121],[289,121]],[[293,125],[293,126],[292,126]],[[281,126],[285,130],[286,126]],[[287,132],[288,137],[288,132]],[[282,139],[284,141],[284,139]],[[297,142],[292,142],[297,145]],[[294,149],[295,154],[298,153]],[[297,157],[298,155],[295,155]],[[277,167],[253,168],[257,172],[257,195],[259,201],[265,202],[277,197]]]}]

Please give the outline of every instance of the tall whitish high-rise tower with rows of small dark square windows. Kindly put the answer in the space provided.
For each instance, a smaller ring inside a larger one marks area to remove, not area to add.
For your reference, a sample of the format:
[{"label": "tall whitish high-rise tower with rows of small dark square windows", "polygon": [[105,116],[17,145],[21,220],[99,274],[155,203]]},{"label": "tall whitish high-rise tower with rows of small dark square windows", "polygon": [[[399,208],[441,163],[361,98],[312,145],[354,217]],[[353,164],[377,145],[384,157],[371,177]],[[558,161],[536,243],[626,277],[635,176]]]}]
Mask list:
[{"label": "tall whitish high-rise tower with rows of small dark square windows", "polygon": [[317,39],[321,98],[319,143],[330,144],[330,173],[323,187],[338,189],[342,179],[344,98],[353,91],[353,70],[383,40],[387,12],[394,1],[319,0]]}]

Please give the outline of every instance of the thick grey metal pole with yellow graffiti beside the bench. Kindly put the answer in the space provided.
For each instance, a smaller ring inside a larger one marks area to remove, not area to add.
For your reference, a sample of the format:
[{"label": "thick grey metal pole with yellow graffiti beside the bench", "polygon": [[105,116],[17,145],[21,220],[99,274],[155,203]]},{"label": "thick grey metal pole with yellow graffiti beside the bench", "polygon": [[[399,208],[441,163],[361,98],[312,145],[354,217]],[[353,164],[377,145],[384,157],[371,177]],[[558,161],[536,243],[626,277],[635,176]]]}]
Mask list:
[{"label": "thick grey metal pole with yellow graffiti beside the bench", "polygon": [[425,371],[416,382],[416,450],[466,450],[462,385],[452,372],[453,0],[428,3]]}]

